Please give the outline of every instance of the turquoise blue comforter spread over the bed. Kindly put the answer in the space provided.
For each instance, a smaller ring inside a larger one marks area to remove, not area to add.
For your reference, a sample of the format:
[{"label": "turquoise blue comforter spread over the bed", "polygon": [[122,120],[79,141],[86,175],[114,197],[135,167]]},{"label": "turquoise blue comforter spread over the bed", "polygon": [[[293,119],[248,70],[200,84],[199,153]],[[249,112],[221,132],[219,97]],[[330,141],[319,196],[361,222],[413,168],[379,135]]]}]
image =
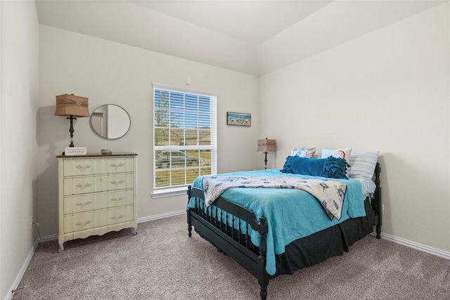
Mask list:
[{"label": "turquoise blue comforter spread over the bed", "polygon": [[[260,171],[243,171],[217,176],[272,176],[320,178],[299,174],[281,173],[279,169]],[[229,188],[221,197],[230,202],[239,204],[255,213],[257,219],[265,216],[269,226],[266,237],[266,271],[270,275],[276,272],[275,254],[283,254],[285,246],[301,237],[334,226],[349,218],[366,216],[364,209],[364,196],[361,183],[355,179],[335,179],[347,185],[341,219],[330,221],[328,214],[314,196],[304,190],[284,188]],[[195,179],[195,188],[203,187],[203,176]],[[194,202],[188,203],[193,208]],[[259,233],[251,230],[250,237],[253,244],[259,246]]]}]

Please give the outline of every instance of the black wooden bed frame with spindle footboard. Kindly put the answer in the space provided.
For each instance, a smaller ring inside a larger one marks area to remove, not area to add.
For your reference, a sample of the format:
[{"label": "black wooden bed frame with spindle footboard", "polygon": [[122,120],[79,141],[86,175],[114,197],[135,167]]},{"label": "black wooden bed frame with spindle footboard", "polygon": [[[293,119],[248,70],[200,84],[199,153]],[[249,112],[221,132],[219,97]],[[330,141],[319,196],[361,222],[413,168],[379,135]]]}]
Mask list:
[{"label": "black wooden bed frame with spindle footboard", "polygon": [[[374,175],[376,188],[375,193],[369,201],[370,207],[375,214],[376,237],[380,239],[382,206],[379,163],[376,164]],[[219,252],[224,252],[224,254],[230,256],[240,266],[248,270],[248,272],[257,278],[260,285],[259,294],[261,299],[265,300],[267,286],[271,278],[271,275],[266,272],[266,234],[268,232],[268,226],[265,217],[261,216],[257,220],[252,211],[233,202],[229,202],[223,197],[218,197],[207,209],[200,209],[198,207],[202,206],[198,204],[203,204],[203,190],[193,188],[189,185],[187,194],[188,201],[191,197],[195,197],[195,202],[197,202],[194,209],[187,209],[189,237],[192,235],[192,226],[194,226],[195,232],[205,238],[205,240],[211,242],[217,247]],[[219,218],[216,218],[216,216],[219,216]],[[222,221],[223,219],[226,221]],[[339,225],[337,224],[335,226]],[[252,244],[250,235],[245,234],[248,233],[249,227],[259,233],[261,240],[260,247]]]}]

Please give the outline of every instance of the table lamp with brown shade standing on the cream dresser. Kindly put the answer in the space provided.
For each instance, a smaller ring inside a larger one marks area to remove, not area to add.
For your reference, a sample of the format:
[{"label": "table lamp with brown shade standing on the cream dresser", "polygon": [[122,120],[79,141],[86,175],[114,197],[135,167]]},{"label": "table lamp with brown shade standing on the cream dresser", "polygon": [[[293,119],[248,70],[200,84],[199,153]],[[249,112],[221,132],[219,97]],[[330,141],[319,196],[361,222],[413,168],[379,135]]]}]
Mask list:
[{"label": "table lamp with brown shade standing on the cream dresser", "polygon": [[65,116],[66,119],[70,119],[70,145],[69,147],[75,147],[73,144],[73,120],[77,117],[89,117],[88,98],[68,95],[56,96],[56,116]]}]

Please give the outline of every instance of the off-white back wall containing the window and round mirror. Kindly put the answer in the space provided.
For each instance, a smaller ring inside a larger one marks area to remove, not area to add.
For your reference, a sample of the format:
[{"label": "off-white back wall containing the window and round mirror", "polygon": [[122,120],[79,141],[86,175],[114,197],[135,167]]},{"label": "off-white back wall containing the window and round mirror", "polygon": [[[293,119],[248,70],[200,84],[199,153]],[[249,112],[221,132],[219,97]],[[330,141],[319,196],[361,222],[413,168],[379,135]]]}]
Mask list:
[{"label": "off-white back wall containing the window and round mirror", "polygon": [[[75,121],[75,146],[88,152],[111,149],[138,154],[138,218],[186,209],[186,195],[153,200],[152,83],[216,91],[218,96],[219,172],[255,169],[258,126],[258,78],[97,39],[54,27],[40,27],[39,57],[39,207],[42,235],[58,233],[56,155],[68,147],[69,122],[53,116],[55,96],[74,93],[89,98],[89,110],[116,104],[127,110],[131,128],[107,141],[92,131],[89,118]],[[227,126],[226,112],[252,114],[252,126]]]}]

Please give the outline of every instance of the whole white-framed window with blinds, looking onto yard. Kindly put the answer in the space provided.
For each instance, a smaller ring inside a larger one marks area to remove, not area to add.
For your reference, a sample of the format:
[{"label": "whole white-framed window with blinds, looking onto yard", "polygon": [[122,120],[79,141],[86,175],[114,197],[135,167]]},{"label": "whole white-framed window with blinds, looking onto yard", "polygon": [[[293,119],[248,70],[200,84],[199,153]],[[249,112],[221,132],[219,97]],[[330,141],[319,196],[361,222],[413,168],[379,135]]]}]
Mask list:
[{"label": "whole white-framed window with blinds, looking onto yard", "polygon": [[217,174],[217,93],[153,83],[153,197]]}]

